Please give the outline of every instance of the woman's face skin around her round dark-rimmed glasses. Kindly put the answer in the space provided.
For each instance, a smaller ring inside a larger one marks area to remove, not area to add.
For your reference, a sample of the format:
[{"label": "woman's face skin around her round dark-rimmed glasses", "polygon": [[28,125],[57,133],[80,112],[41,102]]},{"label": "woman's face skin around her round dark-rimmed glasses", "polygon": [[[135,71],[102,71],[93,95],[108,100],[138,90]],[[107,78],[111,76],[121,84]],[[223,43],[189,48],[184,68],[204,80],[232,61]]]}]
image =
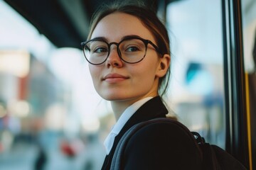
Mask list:
[{"label": "woman's face skin around her round dark-rimmed glasses", "polygon": [[[138,18],[126,13],[112,13],[97,23],[92,38],[107,42],[120,42],[127,35],[137,35],[156,44],[153,35]],[[100,65],[89,64],[95,89],[108,101],[138,101],[146,96],[156,96],[158,89],[160,57],[149,44],[144,60],[136,64],[123,62],[117,46],[111,45],[107,61]]]}]

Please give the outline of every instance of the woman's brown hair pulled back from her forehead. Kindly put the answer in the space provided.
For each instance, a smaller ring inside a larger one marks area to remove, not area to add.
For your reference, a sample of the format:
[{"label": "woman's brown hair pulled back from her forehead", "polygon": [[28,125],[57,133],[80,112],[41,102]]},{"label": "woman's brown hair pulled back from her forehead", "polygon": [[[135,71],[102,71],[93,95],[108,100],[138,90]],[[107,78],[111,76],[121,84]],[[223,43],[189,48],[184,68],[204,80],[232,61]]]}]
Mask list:
[{"label": "woman's brown hair pulled back from her forehead", "polygon": [[[156,45],[159,47],[159,51],[162,54],[171,55],[169,35],[164,24],[156,16],[156,13],[149,8],[146,8],[144,4],[130,4],[125,2],[115,2],[114,4],[105,4],[97,9],[96,13],[92,16],[92,23],[87,40],[90,40],[92,32],[97,26],[97,23],[105,16],[111,13],[120,12],[127,13],[135,16],[142,21],[142,24],[149,29],[156,40]],[[162,96],[165,94],[169,85],[170,68],[166,75],[159,79],[159,94]]]}]

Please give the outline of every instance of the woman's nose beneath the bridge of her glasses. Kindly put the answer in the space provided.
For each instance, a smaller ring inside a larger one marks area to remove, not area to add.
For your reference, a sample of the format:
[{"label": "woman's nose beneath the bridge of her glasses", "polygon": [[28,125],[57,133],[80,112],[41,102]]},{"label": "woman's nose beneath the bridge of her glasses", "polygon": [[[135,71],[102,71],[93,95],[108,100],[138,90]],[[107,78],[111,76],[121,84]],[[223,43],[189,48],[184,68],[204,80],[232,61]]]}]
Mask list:
[{"label": "woman's nose beneath the bridge of her glasses", "polygon": [[115,47],[111,47],[111,45],[110,45],[110,54],[107,57],[106,64],[107,64],[107,67],[122,67],[123,66],[123,62],[118,54],[117,45],[115,45]]}]

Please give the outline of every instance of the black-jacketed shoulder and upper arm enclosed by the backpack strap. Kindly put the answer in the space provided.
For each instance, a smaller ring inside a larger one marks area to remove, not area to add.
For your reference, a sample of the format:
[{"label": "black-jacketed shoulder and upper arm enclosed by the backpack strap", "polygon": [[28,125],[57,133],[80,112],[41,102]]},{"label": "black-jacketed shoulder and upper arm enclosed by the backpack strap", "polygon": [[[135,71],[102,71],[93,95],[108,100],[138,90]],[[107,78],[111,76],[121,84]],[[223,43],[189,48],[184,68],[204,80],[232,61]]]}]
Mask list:
[{"label": "black-jacketed shoulder and upper arm enclosed by the backpack strap", "polygon": [[183,169],[201,164],[198,147],[180,123],[160,121],[139,128],[127,142],[124,155],[132,169],[135,164],[141,164],[140,169],[180,168],[184,161]]}]

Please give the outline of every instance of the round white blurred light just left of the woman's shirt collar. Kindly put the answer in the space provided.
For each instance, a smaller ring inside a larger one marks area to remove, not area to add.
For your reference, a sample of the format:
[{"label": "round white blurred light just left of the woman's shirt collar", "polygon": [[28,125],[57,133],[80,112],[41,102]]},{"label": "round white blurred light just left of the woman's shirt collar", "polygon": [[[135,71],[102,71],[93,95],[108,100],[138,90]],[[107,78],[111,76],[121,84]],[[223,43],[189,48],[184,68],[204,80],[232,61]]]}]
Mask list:
[{"label": "round white blurred light just left of the woman's shirt collar", "polygon": [[98,118],[85,118],[82,121],[82,127],[85,132],[96,132],[100,128],[100,120]]}]

